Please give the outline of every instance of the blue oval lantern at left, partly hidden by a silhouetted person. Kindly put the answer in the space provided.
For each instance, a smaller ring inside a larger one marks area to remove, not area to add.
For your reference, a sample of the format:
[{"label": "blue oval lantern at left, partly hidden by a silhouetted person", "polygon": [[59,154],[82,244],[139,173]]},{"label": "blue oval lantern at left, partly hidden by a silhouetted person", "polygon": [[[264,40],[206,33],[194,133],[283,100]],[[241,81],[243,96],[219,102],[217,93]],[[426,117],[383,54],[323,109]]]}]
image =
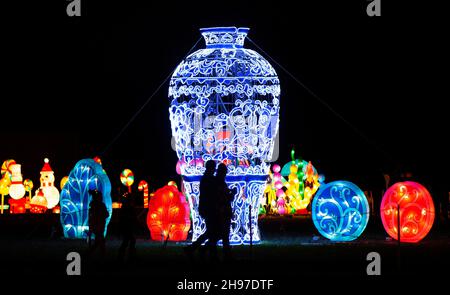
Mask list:
[{"label": "blue oval lantern at left, partly hidden by a silhouetted person", "polygon": [[89,231],[90,190],[103,194],[103,202],[109,212],[106,219],[105,236],[112,214],[111,182],[102,166],[92,159],[79,161],[70,172],[61,191],[61,225],[64,237],[85,238]]}]

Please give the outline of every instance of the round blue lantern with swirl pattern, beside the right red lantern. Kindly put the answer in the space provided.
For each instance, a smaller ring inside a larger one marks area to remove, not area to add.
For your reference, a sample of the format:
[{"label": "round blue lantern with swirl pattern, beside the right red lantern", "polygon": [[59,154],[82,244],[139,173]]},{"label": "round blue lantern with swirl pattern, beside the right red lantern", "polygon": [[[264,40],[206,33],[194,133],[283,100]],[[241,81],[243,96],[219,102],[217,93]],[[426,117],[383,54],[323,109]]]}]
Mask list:
[{"label": "round blue lantern with swirl pattern, beside the right red lantern", "polygon": [[348,181],[321,185],[312,202],[312,218],[317,230],[337,242],[358,238],[367,226],[369,213],[366,196]]}]

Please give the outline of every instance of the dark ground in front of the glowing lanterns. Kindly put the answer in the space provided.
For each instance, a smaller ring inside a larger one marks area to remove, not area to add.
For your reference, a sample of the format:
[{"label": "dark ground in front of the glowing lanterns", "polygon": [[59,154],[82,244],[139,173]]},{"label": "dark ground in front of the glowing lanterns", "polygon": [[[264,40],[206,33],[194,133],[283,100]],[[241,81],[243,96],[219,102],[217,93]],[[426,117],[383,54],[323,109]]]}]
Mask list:
[{"label": "dark ground in front of the glowing lanterns", "polygon": [[[43,217],[40,217],[43,218]],[[6,227],[5,219],[2,228]],[[11,220],[7,222],[11,223]],[[84,276],[181,278],[254,277],[292,279],[307,276],[365,276],[369,252],[381,255],[383,275],[446,275],[450,274],[450,238],[448,226],[435,226],[429,236],[417,244],[401,244],[388,239],[379,223],[372,222],[363,235],[347,243],[333,243],[321,237],[310,218],[266,218],[260,221],[262,242],[258,245],[233,247],[231,263],[211,264],[208,256],[194,255],[189,259],[183,246],[150,241],[142,229],[137,241],[135,261],[118,263],[121,243],[114,226],[107,239],[106,256],[87,258],[85,240],[66,240],[49,229],[42,220],[26,217],[14,220],[0,238],[0,274],[20,274],[25,277],[66,276],[66,256],[79,252]],[[38,224],[36,227],[24,224]],[[22,224],[22,227],[18,226]],[[14,230],[16,227],[16,230]],[[220,253],[219,249],[219,253]],[[98,256],[98,255],[97,255]]]}]

